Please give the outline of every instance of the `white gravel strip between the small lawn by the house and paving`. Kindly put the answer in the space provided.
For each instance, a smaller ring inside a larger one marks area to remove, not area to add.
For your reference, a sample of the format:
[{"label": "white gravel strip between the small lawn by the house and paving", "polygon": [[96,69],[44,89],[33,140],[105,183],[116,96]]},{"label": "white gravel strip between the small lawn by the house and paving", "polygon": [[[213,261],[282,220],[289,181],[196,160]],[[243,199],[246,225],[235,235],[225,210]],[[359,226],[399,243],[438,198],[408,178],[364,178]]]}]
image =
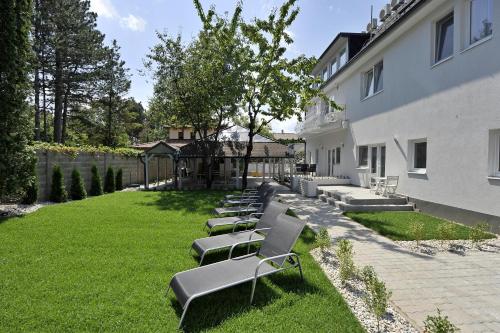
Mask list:
[{"label": "white gravel strip between the small lawn by the house and paving", "polygon": [[500,253],[500,239],[498,238],[487,239],[478,244],[474,244],[470,240],[425,240],[420,241],[418,246],[416,241],[396,241],[395,243],[412,252],[427,255],[437,255],[440,252],[455,253],[462,256],[470,252]]}]

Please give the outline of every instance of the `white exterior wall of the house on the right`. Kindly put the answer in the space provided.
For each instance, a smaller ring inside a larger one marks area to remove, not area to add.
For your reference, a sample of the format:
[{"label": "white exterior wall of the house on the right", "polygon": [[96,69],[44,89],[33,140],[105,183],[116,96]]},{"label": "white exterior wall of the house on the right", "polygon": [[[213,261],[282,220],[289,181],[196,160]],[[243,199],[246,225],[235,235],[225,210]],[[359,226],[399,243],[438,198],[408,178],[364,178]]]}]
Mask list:
[{"label": "white exterior wall of the house on the right", "polygon": [[[454,56],[432,66],[434,22],[452,7]],[[343,142],[344,173],[359,185],[356,146],[385,143],[386,173],[400,176],[400,193],[500,216],[500,181],[488,179],[489,131],[500,129],[500,3],[494,1],[493,37],[468,50],[464,9],[463,0],[430,2],[411,27],[401,28],[408,28],[402,36],[389,36],[390,44],[375,47],[329,84],[325,91],[347,105],[350,128],[307,138],[307,150],[314,155],[316,148]],[[381,59],[384,90],[361,101],[361,73]],[[427,174],[416,176],[407,172],[408,140],[419,138],[428,142]]]}]

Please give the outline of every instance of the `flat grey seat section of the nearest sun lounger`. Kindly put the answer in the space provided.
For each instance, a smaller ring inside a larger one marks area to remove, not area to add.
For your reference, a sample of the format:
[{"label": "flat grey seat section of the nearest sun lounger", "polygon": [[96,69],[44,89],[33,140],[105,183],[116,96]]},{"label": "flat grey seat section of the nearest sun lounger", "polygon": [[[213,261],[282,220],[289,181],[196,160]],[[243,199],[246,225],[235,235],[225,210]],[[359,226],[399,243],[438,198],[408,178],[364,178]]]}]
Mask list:
[{"label": "flat grey seat section of the nearest sun lounger", "polygon": [[[170,287],[184,308],[188,299],[194,295],[208,294],[252,281],[260,260],[257,256],[240,257],[180,272],[173,277]],[[264,263],[259,269],[259,277],[276,270]]]}]

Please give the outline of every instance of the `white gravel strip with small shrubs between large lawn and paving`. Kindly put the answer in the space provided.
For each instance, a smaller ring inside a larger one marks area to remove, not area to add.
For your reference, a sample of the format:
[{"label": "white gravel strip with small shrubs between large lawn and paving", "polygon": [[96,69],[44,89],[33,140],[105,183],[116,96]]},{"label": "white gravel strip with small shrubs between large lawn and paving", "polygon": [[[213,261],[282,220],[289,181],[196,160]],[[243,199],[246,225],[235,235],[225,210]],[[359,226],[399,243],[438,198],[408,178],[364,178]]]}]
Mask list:
[{"label": "white gravel strip with small shrubs between large lawn and paving", "polygon": [[[314,249],[311,251],[311,255],[320,264],[331,283],[344,297],[351,311],[358,318],[365,330],[369,333],[377,333],[377,319],[369,312],[363,300],[365,295],[363,282],[358,279],[349,281],[346,285],[340,282],[338,262],[333,254],[333,249],[325,251],[324,254],[320,249]],[[418,333],[419,331],[406,318],[399,314],[392,305],[389,305],[385,317],[380,321],[380,332]]]}]

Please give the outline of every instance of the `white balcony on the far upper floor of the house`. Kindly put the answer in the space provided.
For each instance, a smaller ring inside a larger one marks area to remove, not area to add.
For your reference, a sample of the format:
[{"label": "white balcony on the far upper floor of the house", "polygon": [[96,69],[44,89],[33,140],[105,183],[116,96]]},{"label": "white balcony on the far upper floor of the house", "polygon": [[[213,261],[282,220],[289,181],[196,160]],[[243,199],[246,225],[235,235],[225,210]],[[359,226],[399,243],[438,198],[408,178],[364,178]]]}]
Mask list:
[{"label": "white balcony on the far upper floor of the house", "polygon": [[347,128],[346,112],[309,112],[306,119],[297,124],[296,132],[308,136]]}]

